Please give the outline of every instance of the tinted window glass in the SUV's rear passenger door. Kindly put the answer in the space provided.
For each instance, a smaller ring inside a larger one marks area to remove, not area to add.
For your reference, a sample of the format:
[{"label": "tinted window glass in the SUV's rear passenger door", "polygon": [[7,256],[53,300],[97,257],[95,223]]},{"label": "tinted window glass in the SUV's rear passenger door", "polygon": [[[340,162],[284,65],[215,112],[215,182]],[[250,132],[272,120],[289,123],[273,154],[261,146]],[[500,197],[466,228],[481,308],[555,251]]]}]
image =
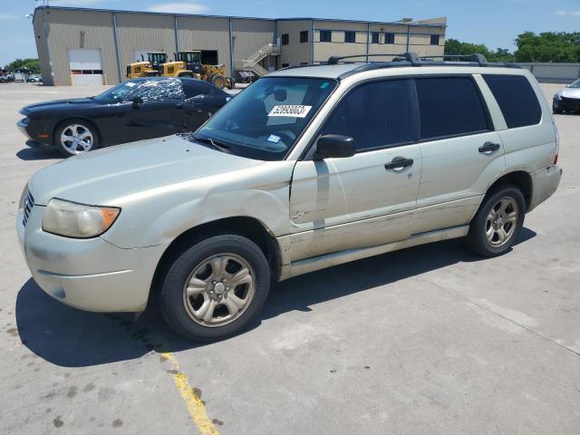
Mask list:
[{"label": "tinted window glass in the SUV's rear passenger door", "polygon": [[488,130],[483,102],[469,77],[434,77],[415,83],[421,140]]}]

